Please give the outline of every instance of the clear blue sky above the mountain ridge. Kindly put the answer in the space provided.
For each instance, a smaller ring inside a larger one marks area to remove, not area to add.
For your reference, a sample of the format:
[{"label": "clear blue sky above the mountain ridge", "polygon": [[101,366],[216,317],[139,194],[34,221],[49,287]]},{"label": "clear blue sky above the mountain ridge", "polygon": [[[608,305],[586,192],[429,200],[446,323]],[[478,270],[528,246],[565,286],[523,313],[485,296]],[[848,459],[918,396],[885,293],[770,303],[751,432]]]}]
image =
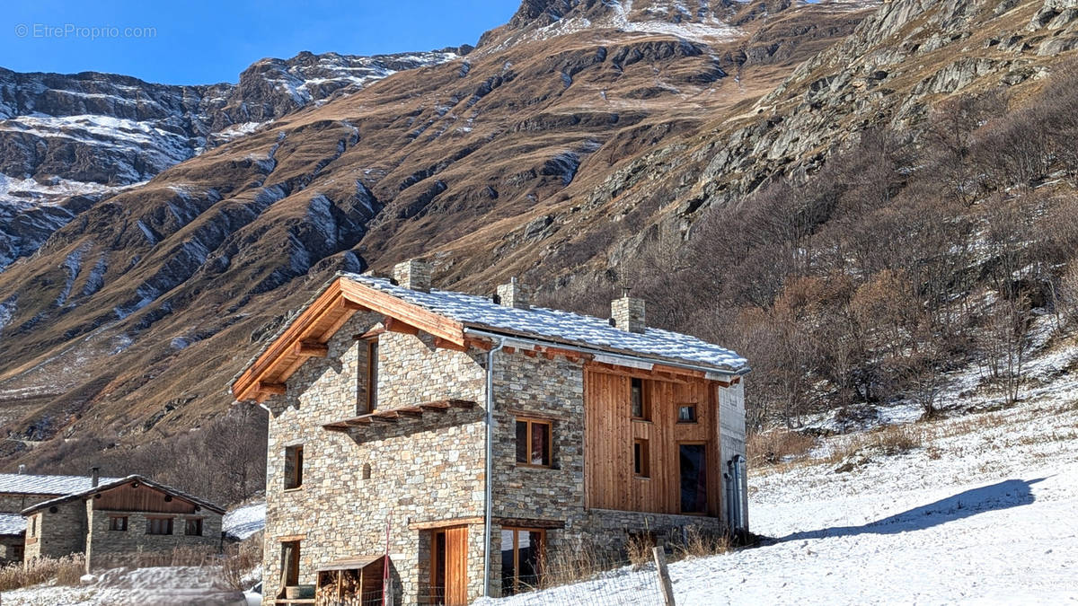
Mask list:
[{"label": "clear blue sky above the mountain ridge", "polygon": [[520,0],[9,0],[0,13],[0,67],[107,71],[168,84],[236,82],[262,57],[300,51],[370,55],[474,44],[519,5]]}]

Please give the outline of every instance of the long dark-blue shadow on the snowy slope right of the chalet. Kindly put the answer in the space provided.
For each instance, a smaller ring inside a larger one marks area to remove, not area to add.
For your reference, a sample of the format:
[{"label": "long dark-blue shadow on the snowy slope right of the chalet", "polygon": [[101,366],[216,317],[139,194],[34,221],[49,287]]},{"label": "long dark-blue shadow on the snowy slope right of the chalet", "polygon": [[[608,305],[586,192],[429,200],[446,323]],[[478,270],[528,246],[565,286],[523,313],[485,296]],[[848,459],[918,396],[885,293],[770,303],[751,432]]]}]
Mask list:
[{"label": "long dark-blue shadow on the snowy slope right of the chalet", "polygon": [[793,533],[777,540],[782,542],[798,539],[846,537],[863,534],[893,535],[911,531],[923,531],[985,511],[1029,505],[1034,501],[1033,492],[1029,491],[1029,486],[1042,480],[1045,479],[1005,480],[990,486],[964,491],[935,502],[915,507],[860,526],[833,526],[818,531]]}]

